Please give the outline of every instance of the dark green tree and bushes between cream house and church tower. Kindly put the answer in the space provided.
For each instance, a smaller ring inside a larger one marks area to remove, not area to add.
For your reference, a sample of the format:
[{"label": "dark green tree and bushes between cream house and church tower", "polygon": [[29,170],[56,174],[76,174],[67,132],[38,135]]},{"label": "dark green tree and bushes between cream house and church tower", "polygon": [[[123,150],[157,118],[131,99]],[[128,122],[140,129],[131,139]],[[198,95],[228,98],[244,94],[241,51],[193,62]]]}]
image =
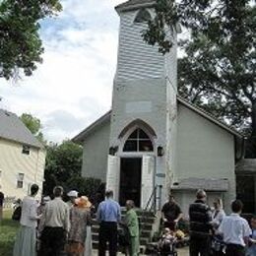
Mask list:
[{"label": "dark green tree and bushes between cream house and church tower", "polygon": [[81,176],[83,148],[72,141],[64,141],[60,145],[46,146],[47,155],[44,170],[43,193],[50,195],[56,185],[65,191],[77,190],[83,195],[93,197],[100,187],[100,180]]}]

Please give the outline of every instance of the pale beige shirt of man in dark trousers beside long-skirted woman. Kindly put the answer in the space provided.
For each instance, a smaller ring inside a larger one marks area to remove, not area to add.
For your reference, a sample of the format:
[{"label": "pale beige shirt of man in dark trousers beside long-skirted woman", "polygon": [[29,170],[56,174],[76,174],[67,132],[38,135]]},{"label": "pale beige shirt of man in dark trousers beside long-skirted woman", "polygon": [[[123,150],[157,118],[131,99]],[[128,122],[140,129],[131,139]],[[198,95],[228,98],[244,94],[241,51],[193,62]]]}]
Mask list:
[{"label": "pale beige shirt of man in dark trousers beside long-skirted woman", "polygon": [[39,230],[42,230],[44,226],[63,227],[69,231],[69,207],[60,197],[54,198],[45,205]]}]

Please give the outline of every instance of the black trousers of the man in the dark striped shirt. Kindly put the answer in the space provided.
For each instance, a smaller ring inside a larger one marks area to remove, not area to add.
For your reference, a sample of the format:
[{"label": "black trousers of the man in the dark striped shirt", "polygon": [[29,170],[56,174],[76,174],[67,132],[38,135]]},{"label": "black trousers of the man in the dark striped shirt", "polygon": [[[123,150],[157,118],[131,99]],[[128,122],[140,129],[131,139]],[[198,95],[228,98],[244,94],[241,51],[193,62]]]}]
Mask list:
[{"label": "black trousers of the man in the dark striped shirt", "polygon": [[209,256],[211,251],[211,239],[209,237],[191,236],[189,240],[190,256]]}]

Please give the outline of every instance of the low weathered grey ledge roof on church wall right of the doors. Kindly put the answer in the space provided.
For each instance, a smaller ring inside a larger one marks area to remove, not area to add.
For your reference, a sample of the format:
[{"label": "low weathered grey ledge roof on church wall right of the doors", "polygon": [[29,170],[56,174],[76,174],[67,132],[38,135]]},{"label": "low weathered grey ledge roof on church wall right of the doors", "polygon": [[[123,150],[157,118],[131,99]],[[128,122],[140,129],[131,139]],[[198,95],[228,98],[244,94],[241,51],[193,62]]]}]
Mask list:
[{"label": "low weathered grey ledge roof on church wall right of the doors", "polygon": [[171,186],[172,190],[198,190],[206,191],[227,191],[227,178],[184,178],[174,182]]}]

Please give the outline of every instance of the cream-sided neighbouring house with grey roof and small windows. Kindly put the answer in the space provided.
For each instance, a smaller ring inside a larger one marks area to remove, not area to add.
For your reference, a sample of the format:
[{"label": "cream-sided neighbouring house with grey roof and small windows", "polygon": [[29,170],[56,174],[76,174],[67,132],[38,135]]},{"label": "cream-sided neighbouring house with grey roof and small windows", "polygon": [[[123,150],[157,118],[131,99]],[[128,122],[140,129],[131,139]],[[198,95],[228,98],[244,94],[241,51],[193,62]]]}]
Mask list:
[{"label": "cream-sided neighbouring house with grey roof and small windows", "polygon": [[45,150],[20,118],[0,109],[0,190],[9,198],[28,195],[32,183],[42,189]]}]

